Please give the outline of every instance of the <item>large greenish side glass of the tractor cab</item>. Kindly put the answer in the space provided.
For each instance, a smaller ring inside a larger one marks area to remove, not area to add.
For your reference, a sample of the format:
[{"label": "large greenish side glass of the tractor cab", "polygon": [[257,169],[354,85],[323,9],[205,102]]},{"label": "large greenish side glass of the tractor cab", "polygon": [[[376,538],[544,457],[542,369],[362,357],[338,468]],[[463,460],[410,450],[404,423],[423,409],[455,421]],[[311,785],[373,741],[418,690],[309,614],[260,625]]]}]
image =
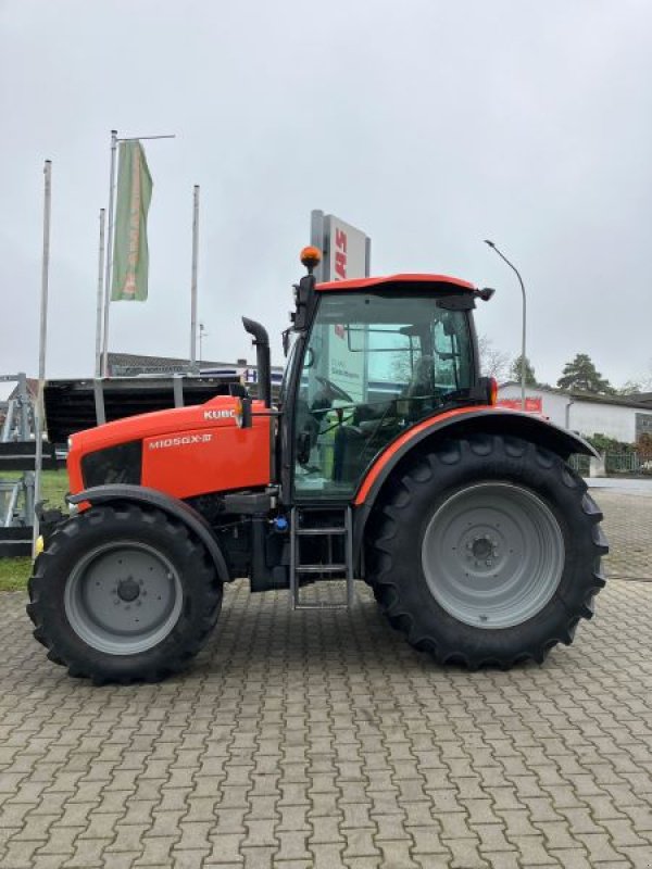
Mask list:
[{"label": "large greenish side glass of the tractor cab", "polygon": [[443,304],[416,292],[321,295],[296,411],[298,498],[351,495],[389,441],[468,399],[467,312]]}]

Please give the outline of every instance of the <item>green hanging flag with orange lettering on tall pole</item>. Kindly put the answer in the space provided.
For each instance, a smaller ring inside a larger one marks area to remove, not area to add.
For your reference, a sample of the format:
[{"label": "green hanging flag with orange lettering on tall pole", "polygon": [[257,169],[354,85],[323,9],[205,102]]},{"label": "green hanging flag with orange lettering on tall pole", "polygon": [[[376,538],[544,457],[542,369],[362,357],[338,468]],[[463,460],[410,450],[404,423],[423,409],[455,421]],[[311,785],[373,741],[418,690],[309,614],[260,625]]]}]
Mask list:
[{"label": "green hanging flag with orange lettering on tall pole", "polygon": [[147,299],[147,212],[152,178],[139,141],[120,143],[111,301]]}]

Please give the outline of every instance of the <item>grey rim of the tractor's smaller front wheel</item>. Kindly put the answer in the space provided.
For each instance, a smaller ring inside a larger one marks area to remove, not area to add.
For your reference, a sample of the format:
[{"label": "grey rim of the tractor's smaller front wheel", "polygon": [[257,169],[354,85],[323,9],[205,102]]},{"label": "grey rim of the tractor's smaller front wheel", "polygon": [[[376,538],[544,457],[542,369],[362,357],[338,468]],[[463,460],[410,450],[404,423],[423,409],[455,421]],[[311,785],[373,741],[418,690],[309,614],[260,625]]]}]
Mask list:
[{"label": "grey rim of the tractor's smaller front wheel", "polygon": [[64,605],[75,633],[92,648],[134,655],[162,642],[183,606],[172,563],[139,541],[105,543],[75,566]]}]

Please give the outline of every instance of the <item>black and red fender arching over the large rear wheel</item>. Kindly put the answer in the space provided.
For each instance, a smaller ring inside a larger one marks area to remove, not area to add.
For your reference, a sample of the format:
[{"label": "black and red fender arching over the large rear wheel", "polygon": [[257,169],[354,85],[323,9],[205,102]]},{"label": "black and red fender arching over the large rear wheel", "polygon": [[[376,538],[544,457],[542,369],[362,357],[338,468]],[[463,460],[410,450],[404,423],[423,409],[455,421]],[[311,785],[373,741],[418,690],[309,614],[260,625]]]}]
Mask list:
[{"label": "black and red fender arching over the large rear wheel", "polygon": [[502,407],[461,407],[426,419],[390,443],[369,467],[354,498],[354,554],[362,550],[369,514],[390,475],[415,446],[435,445],[444,438],[465,438],[475,432],[523,438],[560,455],[564,461],[574,453],[598,457],[584,438],[538,416]]}]

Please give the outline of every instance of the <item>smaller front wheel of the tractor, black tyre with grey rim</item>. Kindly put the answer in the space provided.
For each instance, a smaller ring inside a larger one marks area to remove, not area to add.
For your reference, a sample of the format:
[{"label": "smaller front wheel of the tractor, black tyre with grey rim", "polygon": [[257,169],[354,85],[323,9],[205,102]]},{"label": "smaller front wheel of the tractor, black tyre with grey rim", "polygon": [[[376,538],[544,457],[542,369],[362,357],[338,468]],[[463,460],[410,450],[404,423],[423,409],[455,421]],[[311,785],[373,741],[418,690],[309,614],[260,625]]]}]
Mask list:
[{"label": "smaller front wheel of the tractor, black tyre with grey rim", "polygon": [[159,681],[217,620],[222,583],[203,545],[162,511],[91,507],[35,563],[27,612],[48,657],[96,683]]}]

